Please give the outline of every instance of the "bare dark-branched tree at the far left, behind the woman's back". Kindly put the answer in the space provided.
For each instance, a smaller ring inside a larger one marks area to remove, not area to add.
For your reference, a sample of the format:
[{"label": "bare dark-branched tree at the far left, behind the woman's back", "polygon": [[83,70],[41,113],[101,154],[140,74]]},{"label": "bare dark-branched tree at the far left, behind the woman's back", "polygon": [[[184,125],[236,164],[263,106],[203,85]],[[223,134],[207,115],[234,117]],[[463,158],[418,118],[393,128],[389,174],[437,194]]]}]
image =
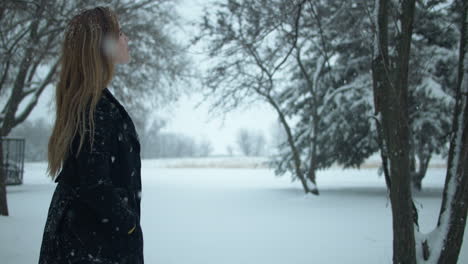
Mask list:
[{"label": "bare dark-branched tree at the far left, behind the woman's back", "polygon": [[[23,122],[54,81],[57,46],[66,13],[62,2],[7,1],[0,23],[0,140]],[[19,105],[26,107],[19,112]],[[0,152],[3,150],[0,148]],[[0,153],[2,156],[3,153]],[[4,171],[0,170],[0,214],[8,215]]]}]

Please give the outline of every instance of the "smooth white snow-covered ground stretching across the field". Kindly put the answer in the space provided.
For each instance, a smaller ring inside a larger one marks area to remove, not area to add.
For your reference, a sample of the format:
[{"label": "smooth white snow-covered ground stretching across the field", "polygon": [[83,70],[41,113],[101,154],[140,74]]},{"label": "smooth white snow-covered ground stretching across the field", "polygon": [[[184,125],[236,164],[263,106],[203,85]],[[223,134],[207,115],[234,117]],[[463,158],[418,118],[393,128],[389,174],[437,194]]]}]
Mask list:
[{"label": "smooth white snow-covered ground stretching across the field", "polygon": [[[391,263],[391,211],[375,168],[320,171],[315,197],[268,169],[159,165],[143,161],[146,263]],[[3,264],[37,263],[54,190],[45,168],[27,163],[25,183],[8,187],[11,216],[0,217]],[[444,169],[430,169],[426,190],[415,194],[423,232],[437,221],[444,176]],[[468,263],[466,243],[459,263]]]}]

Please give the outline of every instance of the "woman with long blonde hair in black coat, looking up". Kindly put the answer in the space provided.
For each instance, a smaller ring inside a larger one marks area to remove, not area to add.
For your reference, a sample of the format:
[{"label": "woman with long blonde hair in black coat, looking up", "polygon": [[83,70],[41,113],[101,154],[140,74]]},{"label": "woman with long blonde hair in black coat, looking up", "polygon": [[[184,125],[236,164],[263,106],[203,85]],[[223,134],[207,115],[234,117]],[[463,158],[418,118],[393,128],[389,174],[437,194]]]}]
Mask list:
[{"label": "woman with long blonde hair in black coat, looking up", "polygon": [[48,172],[52,197],[40,264],[143,263],[140,144],[132,120],[106,88],[127,63],[114,12],[97,7],[66,29]]}]

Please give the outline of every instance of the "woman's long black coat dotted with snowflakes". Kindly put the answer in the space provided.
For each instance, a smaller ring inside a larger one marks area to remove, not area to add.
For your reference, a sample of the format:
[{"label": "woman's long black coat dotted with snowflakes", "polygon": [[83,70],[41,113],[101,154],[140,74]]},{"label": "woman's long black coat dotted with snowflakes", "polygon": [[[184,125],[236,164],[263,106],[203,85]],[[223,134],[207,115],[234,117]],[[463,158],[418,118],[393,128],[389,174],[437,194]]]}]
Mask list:
[{"label": "woman's long black coat dotted with snowflakes", "polygon": [[[106,88],[89,137],[58,175],[39,264],[143,263],[141,160],[135,127]],[[79,138],[72,144],[77,150]]]}]

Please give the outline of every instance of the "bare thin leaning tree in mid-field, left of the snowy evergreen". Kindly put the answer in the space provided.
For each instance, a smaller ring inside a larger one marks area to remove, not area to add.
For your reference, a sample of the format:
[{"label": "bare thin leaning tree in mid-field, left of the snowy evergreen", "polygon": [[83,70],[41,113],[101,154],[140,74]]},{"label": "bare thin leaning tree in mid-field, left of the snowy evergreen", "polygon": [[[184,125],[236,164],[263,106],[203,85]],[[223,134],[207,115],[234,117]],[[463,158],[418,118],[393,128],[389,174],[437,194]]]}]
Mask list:
[{"label": "bare thin leaning tree in mid-field, left of the snowy evergreen", "polygon": [[[209,90],[207,96],[219,96],[213,107],[223,111],[255,100],[268,103],[286,131],[294,174],[305,193],[318,194],[315,182],[306,178],[287,109],[279,98],[284,90],[281,70],[292,57],[305,2],[229,1],[220,4],[225,9],[217,12],[216,18],[206,14],[201,24],[201,37],[211,43],[209,55],[214,59],[214,66],[204,79],[204,85]],[[253,20],[247,23],[245,18]],[[283,37],[277,38],[280,28]],[[271,43],[274,44],[269,45]]]}]

